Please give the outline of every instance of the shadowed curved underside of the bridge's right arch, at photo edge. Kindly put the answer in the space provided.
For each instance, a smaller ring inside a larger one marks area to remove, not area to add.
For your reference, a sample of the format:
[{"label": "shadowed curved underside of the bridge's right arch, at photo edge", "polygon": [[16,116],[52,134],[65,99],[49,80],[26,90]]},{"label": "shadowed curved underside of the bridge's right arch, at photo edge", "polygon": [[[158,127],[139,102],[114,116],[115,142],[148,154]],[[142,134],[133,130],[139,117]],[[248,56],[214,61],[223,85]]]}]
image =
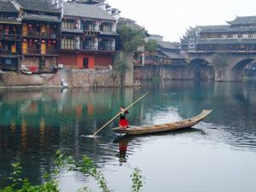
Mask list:
[{"label": "shadowed curved underside of the bridge's right arch, at photo edge", "polygon": [[247,64],[251,63],[252,61],[255,61],[255,59],[246,58],[236,62],[235,66],[232,67],[231,70],[231,81],[242,81],[243,69],[247,66]]}]

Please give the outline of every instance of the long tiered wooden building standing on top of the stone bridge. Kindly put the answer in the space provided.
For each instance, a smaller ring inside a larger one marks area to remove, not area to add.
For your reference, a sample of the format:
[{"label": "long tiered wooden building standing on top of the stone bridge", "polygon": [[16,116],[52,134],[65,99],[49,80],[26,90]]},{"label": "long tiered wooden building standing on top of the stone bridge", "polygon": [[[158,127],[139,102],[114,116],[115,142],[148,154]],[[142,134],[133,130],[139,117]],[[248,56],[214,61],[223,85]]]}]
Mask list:
[{"label": "long tiered wooden building standing on top of the stone bridge", "polygon": [[256,53],[256,16],[236,17],[223,26],[190,27],[181,38],[183,52]]}]

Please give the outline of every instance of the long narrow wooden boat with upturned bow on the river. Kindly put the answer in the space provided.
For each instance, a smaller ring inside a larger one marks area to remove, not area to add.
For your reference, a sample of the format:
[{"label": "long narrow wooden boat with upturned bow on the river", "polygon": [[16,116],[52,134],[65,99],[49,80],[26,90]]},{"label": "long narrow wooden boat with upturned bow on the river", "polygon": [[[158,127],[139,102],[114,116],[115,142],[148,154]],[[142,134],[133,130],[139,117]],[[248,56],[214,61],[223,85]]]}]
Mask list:
[{"label": "long narrow wooden boat with upturned bow on the river", "polygon": [[144,126],[130,126],[126,129],[112,128],[113,131],[119,133],[125,133],[127,135],[143,135],[143,134],[152,134],[157,132],[164,132],[164,131],[173,131],[183,128],[192,127],[195,124],[198,124],[202,119],[205,119],[212,110],[203,110],[200,114],[196,115],[190,119],[184,119],[181,121],[167,123],[167,124],[160,124],[160,125],[144,125]]}]

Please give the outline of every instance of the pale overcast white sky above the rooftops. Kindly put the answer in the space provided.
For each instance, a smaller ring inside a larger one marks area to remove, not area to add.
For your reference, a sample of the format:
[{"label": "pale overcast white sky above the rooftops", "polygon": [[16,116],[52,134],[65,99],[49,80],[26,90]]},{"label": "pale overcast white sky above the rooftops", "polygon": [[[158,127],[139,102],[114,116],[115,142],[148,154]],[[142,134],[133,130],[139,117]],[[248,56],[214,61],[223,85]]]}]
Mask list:
[{"label": "pale overcast white sky above the rooftops", "polygon": [[150,34],[179,41],[189,26],[224,25],[237,16],[256,15],[255,0],[107,0],[121,16],[137,20]]}]

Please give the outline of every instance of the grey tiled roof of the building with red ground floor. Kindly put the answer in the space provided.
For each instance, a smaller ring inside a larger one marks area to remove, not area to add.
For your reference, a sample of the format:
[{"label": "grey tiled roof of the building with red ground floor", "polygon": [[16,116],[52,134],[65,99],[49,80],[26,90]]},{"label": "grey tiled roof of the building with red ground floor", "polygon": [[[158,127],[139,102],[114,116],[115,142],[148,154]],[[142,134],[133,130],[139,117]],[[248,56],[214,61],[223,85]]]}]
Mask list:
[{"label": "grey tiled roof of the building with red ground floor", "polygon": [[111,15],[96,5],[64,3],[64,15],[92,19],[115,20]]}]

